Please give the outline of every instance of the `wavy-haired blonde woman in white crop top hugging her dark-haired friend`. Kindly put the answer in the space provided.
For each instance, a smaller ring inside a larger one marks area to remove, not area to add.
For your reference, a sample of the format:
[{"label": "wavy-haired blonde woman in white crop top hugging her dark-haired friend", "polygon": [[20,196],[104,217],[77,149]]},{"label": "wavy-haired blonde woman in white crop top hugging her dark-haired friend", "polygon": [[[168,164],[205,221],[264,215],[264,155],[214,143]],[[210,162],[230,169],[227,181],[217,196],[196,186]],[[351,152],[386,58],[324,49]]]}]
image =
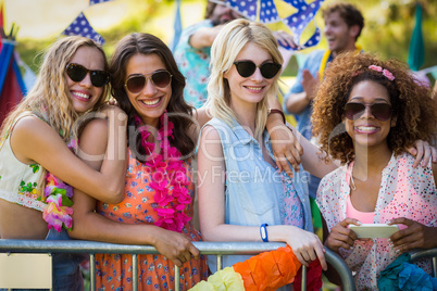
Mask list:
[{"label": "wavy-haired blonde woman in white crop top hugging her dark-haired friend", "polygon": [[[66,240],[72,228],[72,187],[102,201],[123,197],[126,115],[107,110],[116,130],[108,134],[100,172],[74,152],[79,122],[108,96],[108,61],[102,48],[84,37],[65,37],[46,52],[37,81],[11,112],[0,141],[0,236],[2,239]],[[120,129],[120,130],[118,130]],[[58,210],[58,211],[57,211]],[[53,254],[53,290],[83,290],[84,256]]]}]

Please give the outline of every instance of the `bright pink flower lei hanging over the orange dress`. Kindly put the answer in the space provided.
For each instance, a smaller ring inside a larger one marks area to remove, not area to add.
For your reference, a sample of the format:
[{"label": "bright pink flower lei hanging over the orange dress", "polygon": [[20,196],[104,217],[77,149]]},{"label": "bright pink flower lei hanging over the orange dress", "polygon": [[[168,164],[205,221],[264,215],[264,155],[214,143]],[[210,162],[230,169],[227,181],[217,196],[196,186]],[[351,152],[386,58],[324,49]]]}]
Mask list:
[{"label": "bright pink flower lei hanging over the orange dress", "polygon": [[[137,115],[134,119],[141,135],[141,146],[149,154],[145,164],[148,166],[147,170],[151,173],[150,187],[154,190],[153,199],[157,204],[154,210],[159,216],[154,225],[182,232],[184,225],[191,219],[184,213],[186,206],[191,203],[191,197],[185,187],[189,185],[189,180],[185,174],[184,162],[180,160],[182,154],[168,142],[168,137],[174,139],[174,125],[168,121],[166,112],[161,115],[161,128],[157,136],[160,140],[160,150],[155,152],[155,144],[147,141],[150,136],[148,126],[141,126],[142,122]],[[164,156],[167,163],[164,162]]]}]

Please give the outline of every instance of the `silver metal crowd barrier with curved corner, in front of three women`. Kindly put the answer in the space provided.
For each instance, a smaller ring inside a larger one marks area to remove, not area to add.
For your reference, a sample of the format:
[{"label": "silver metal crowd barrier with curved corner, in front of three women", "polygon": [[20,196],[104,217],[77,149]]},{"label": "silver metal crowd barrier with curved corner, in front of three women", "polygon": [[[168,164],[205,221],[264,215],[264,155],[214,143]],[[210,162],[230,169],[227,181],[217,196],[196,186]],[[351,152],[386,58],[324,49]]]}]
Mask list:
[{"label": "silver metal crowd barrier with curved corner, in front of three women", "polygon": [[[273,251],[285,243],[276,242],[193,242],[201,254],[216,255],[217,269],[222,269],[223,255],[254,255],[266,251]],[[133,290],[138,290],[138,255],[158,254],[150,245],[114,244],[95,241],[46,241],[46,240],[4,240],[0,239],[0,253],[88,253],[90,255],[90,286],[96,290],[96,266],[95,254],[132,254],[133,255]],[[330,250],[326,250],[327,262],[337,269],[340,275],[344,290],[355,290],[355,283],[349,267],[345,261]],[[307,290],[307,268],[302,269],[302,289]],[[179,268],[175,266],[175,290],[179,291]]]}]

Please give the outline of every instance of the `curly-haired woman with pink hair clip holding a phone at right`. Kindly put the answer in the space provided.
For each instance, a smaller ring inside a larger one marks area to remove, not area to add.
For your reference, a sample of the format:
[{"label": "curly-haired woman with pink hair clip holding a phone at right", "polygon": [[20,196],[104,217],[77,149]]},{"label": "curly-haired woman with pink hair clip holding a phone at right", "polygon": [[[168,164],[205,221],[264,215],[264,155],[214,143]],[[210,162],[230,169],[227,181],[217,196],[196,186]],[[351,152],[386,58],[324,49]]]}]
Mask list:
[{"label": "curly-haired woman with pink hair clip holding a phone at right", "polygon": [[[395,60],[347,53],[330,64],[312,116],[321,147],[345,166],[317,191],[325,245],[357,273],[359,290],[377,289],[387,265],[414,248],[437,246],[437,165],[413,167],[405,152],[436,128],[430,92]],[[358,239],[349,225],[399,225],[389,239]],[[419,265],[429,271],[428,262]]]}]

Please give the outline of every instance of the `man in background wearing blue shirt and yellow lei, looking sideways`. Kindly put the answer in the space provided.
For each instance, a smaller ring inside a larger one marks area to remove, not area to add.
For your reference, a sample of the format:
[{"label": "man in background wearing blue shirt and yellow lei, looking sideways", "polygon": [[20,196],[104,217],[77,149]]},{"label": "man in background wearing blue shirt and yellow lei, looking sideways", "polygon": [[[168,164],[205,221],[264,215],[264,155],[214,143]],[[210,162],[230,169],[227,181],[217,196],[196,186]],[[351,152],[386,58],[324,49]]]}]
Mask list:
[{"label": "man in background wearing blue shirt and yellow lei, looking sideways", "polygon": [[[328,42],[327,50],[315,50],[308,54],[299,67],[296,83],[284,97],[283,109],[286,114],[294,114],[297,129],[311,140],[311,113],[316,88],[323,79],[323,73],[328,64],[341,52],[361,51],[357,40],[364,27],[361,12],[350,3],[330,3],[322,10],[325,21],[324,35]],[[309,176],[309,191],[315,198],[320,178]]]}]

